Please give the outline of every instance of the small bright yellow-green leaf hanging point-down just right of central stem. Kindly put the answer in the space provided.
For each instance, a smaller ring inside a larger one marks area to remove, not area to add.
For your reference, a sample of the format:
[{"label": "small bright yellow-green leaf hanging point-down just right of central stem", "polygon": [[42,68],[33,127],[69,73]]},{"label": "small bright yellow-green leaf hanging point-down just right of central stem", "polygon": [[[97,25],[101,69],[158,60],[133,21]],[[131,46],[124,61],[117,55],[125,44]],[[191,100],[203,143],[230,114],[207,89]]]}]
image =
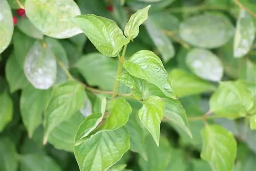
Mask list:
[{"label": "small bright yellow-green leaf hanging point-down just right of central stem", "polygon": [[165,102],[157,96],[151,96],[143,101],[143,106],[139,110],[141,123],[151,133],[157,146],[159,146],[160,123],[164,116]]}]

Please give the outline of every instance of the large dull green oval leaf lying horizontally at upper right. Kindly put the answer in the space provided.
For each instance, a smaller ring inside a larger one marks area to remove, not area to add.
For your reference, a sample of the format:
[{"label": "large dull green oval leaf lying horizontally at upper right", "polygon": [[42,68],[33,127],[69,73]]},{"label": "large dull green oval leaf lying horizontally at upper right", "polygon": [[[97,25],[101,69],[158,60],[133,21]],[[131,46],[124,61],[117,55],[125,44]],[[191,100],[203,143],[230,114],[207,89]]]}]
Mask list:
[{"label": "large dull green oval leaf lying horizontally at upper right", "polygon": [[218,48],[233,36],[234,28],[224,14],[205,13],[185,20],[179,29],[180,37],[200,48]]}]

